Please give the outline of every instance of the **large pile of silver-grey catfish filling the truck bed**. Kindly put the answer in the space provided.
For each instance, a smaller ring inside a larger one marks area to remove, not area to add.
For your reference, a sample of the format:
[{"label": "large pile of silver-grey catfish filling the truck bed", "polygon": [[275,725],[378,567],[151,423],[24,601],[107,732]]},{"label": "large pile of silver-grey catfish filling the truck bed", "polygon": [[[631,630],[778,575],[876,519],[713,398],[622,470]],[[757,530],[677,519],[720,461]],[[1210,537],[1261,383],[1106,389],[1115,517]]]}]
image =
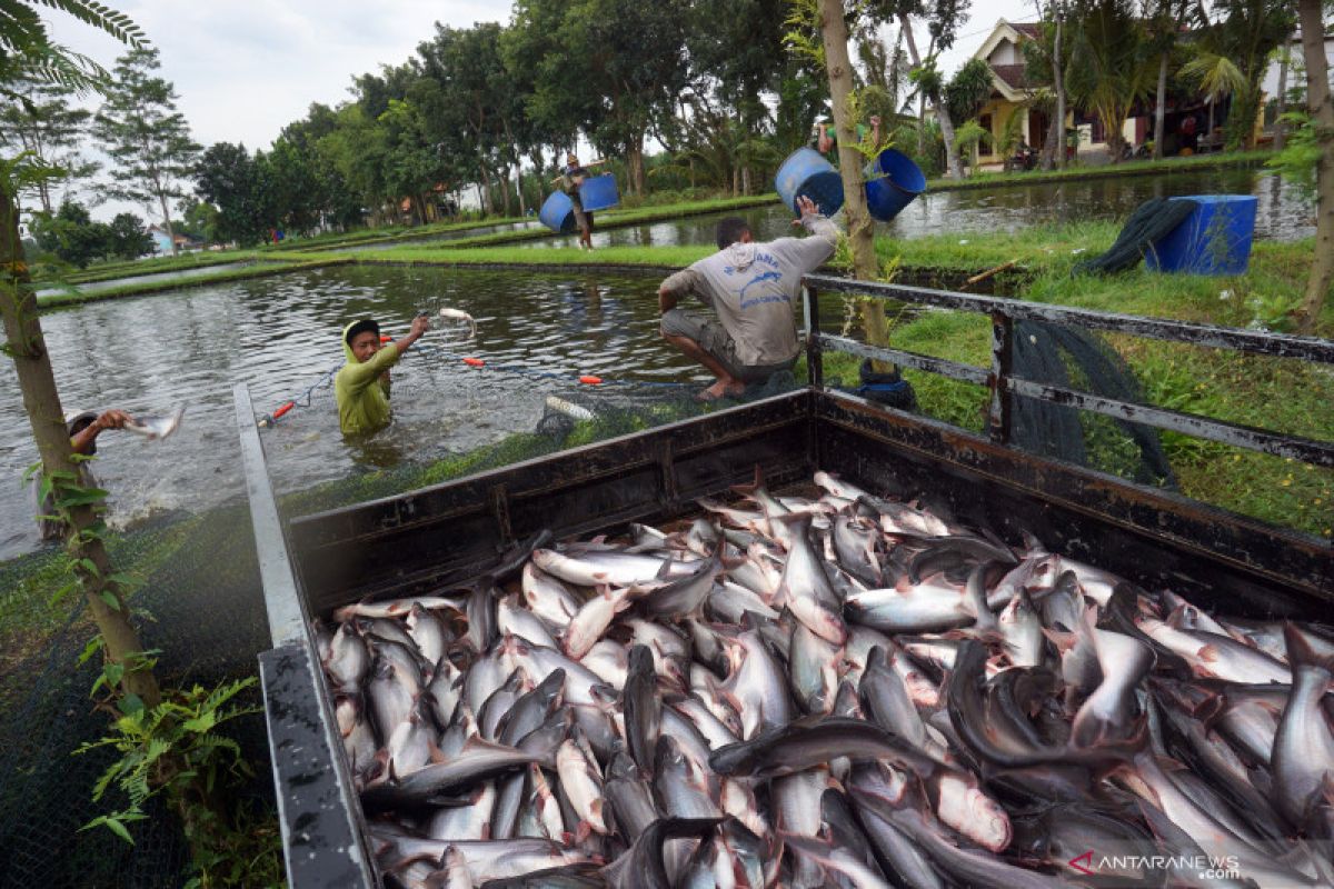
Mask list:
[{"label": "large pile of silver-grey catfish filling the truck bed", "polygon": [[317,626],[402,886],[1329,886],[1334,642],[827,473]]}]

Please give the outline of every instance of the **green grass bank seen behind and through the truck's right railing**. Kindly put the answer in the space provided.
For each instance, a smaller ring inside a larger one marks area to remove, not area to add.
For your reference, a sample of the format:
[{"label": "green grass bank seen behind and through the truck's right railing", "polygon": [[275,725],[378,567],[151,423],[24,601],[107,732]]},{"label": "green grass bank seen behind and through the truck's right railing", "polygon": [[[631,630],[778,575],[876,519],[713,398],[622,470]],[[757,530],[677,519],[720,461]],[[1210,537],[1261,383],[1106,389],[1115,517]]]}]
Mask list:
[{"label": "green grass bank seen behind and through the truck's right railing", "polygon": [[[1107,277],[1071,277],[1081,259],[1106,249],[1114,224],[1026,229],[963,239],[938,236],[876,244],[882,259],[906,268],[975,271],[1019,259],[1025,277],[1014,296],[1081,308],[1247,327],[1281,325],[1306,284],[1314,245],[1257,241],[1250,271],[1235,277],[1159,275],[1139,267]],[[1334,336],[1334,303],[1318,333]],[[991,324],[980,315],[926,312],[898,324],[895,348],[988,367]],[[1313,439],[1334,439],[1334,368],[1249,356],[1177,343],[1107,335],[1134,372],[1149,404]],[[826,375],[856,379],[858,361],[832,357]],[[986,391],[931,373],[907,371],[923,412],[980,431]],[[1073,388],[1081,388],[1075,380]],[[1110,423],[1082,413],[1094,464],[1125,473],[1131,454]],[[1334,537],[1334,472],[1173,432],[1162,444],[1182,493],[1322,537]]]}]

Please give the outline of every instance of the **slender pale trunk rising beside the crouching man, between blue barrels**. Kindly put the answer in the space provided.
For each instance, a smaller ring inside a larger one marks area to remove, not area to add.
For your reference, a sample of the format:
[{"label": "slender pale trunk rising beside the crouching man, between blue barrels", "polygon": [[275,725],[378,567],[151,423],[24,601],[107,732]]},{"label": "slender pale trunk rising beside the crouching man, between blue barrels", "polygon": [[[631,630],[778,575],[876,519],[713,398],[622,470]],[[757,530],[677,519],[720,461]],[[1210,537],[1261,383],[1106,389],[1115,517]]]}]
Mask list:
[{"label": "slender pale trunk rising beside the crouching man, between blue barrels", "polygon": [[[830,99],[834,101],[834,127],[838,131],[839,175],[843,177],[843,216],[847,220],[847,240],[852,251],[852,275],[863,281],[879,277],[880,264],[875,259],[875,231],[866,209],[866,187],[862,180],[862,152],[856,149],[856,120],[852,117],[852,63],[847,55],[847,23],[843,20],[842,0],[820,0],[820,33],[824,39],[824,65],[830,77]],[[884,303],[866,300],[863,304],[866,339],[875,345],[888,343],[884,323]]]}]

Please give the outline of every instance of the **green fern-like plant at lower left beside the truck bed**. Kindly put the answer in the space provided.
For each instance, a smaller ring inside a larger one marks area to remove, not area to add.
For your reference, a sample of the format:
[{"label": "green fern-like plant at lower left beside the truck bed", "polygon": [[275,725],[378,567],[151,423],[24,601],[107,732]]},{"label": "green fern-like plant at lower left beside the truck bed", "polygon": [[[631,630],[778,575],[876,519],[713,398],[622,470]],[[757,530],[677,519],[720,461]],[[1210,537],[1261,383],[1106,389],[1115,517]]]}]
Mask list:
[{"label": "green fern-like plant at lower left beside the truck bed", "polygon": [[[84,657],[93,650],[96,642]],[[95,693],[103,680],[115,686],[115,678],[104,674]],[[189,842],[193,876],[187,886],[281,885],[277,828],[252,802],[232,798],[239,781],[253,777],[253,772],[236,741],[217,730],[260,712],[235,702],[256,681],[249,676],[215,689],[165,689],[161,704],[152,708],[121,698],[111,732],[75,753],[101,748],[119,753],[120,758],[97,780],[93,800],[100,801],[115,785],[128,804],[93,818],[81,830],[107,828],[132,844],[127,825],[147,818],[144,808],[161,797],[180,817]]]}]

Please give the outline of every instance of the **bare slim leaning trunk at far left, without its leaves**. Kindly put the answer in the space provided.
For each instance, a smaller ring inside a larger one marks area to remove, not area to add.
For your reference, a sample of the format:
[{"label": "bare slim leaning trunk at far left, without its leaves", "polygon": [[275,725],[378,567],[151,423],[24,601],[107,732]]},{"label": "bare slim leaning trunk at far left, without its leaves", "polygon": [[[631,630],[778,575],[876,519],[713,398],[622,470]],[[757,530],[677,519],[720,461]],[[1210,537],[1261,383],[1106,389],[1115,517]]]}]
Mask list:
[{"label": "bare slim leaning trunk at far left, without its leaves", "polygon": [[[72,460],[73,448],[60,407],[60,392],[56,389],[51,355],[41,335],[37,297],[29,287],[28,264],[23,255],[23,241],[19,240],[19,208],[8,196],[0,196],[0,316],[4,317],[5,345],[13,359],[23,408],[41,456],[43,472],[76,473],[79,468]],[[93,622],[105,641],[107,657],[115,664],[127,665],[120,688],[127,694],[137,694],[147,706],[156,706],[160,696],[152,670],[141,665],[128,669],[144,646],[129,622],[120,588],[105,580],[115,573],[107,549],[100,537],[85,538],[83,533],[99,524],[97,513],[91,505],[75,506],[69,518],[69,550],[80,565],[76,569],[79,581],[88,598]],[[95,570],[83,565],[92,565]]]}]

